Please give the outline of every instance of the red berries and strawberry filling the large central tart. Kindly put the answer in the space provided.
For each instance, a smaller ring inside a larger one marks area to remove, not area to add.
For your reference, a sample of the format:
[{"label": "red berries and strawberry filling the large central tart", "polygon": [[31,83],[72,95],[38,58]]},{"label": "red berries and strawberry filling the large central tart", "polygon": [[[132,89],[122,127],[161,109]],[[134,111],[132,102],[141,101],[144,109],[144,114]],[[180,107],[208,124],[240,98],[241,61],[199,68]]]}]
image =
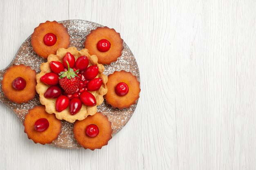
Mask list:
[{"label": "red berries and strawberry filling the large central tart", "polygon": [[52,61],[52,72],[46,73],[40,81],[49,85],[44,96],[56,99],[56,110],[61,112],[68,106],[72,115],[79,112],[82,103],[87,106],[95,106],[96,99],[89,91],[97,91],[102,85],[101,78],[97,77],[99,68],[97,65],[89,66],[86,56],[75,60],[74,55],[66,53],[63,62]]}]

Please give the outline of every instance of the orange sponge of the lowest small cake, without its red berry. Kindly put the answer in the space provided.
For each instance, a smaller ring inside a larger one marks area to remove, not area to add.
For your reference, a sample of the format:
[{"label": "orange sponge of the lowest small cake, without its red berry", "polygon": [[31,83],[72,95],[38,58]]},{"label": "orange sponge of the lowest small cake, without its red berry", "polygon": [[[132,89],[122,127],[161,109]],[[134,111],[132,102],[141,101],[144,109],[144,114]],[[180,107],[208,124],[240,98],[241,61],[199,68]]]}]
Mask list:
[{"label": "orange sponge of the lowest small cake, without its red berry", "polygon": [[[99,128],[99,134],[96,137],[88,137],[85,129],[88,125],[95,124]],[[111,134],[113,129],[111,128],[111,122],[108,121],[108,117],[97,112],[93,116],[88,116],[82,121],[76,121],[74,123],[74,138],[79,145],[85,149],[101,149],[102,146],[108,144],[108,141],[112,138]]]}]

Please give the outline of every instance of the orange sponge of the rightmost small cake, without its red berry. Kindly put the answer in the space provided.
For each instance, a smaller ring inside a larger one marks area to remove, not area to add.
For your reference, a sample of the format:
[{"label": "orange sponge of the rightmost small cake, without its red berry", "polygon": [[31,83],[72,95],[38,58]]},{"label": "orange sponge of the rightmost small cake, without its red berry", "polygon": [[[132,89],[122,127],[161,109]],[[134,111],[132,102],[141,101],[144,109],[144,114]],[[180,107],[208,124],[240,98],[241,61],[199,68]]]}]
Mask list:
[{"label": "orange sponge of the rightmost small cake, without its red berry", "polygon": [[[129,88],[125,96],[119,96],[115,92],[115,86],[120,82],[126,83]],[[129,108],[139,98],[140,88],[137,77],[124,70],[115,71],[113,74],[108,75],[107,88],[108,93],[104,97],[106,98],[106,102],[111,104],[113,108]]]}]

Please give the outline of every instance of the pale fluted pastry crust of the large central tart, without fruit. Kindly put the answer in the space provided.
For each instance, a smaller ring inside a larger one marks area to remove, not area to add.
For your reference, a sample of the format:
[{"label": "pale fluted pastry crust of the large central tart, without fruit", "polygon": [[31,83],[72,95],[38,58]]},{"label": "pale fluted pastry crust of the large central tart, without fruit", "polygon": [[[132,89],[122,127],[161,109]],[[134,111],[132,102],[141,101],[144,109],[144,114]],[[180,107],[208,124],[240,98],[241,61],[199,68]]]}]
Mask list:
[{"label": "pale fluted pastry crust of the large central tart, without fruit", "polygon": [[[102,86],[98,91],[90,92],[96,98],[96,106],[85,106],[83,104],[81,110],[75,115],[70,114],[69,107],[61,112],[57,112],[55,108],[56,99],[49,99],[44,97],[45,91],[47,90],[47,88],[49,88],[49,86],[40,81],[40,77],[42,77],[46,73],[51,72],[49,63],[52,61],[62,62],[63,57],[67,52],[70,52],[72,55],[74,55],[76,59],[80,56],[87,56],[89,60],[89,66],[97,65],[99,67],[99,74],[97,75],[97,77],[100,77],[103,80]],[[78,51],[75,47],[70,47],[68,49],[61,48],[57,50],[56,55],[49,55],[47,62],[42,63],[40,66],[41,72],[36,75],[36,91],[39,94],[41,104],[45,105],[45,110],[47,113],[55,113],[57,119],[64,119],[66,121],[69,121],[70,123],[73,123],[76,120],[85,119],[85,117],[87,117],[88,115],[94,115],[97,112],[97,106],[101,105],[104,100],[103,95],[105,95],[108,91],[106,86],[106,83],[108,82],[108,77],[103,74],[105,68],[102,64],[98,64],[97,61],[97,56],[90,55],[87,49],[82,49],[81,51]]]}]

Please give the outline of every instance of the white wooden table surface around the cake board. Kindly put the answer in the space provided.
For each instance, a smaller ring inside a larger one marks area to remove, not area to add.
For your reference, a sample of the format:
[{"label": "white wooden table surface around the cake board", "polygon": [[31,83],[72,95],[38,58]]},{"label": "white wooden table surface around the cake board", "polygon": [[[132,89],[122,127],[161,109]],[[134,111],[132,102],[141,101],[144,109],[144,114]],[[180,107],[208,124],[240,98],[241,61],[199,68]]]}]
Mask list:
[{"label": "white wooden table surface around the cake board", "polygon": [[101,150],[34,144],[0,104],[1,170],[255,170],[255,0],[0,0],[0,69],[46,20],[115,28],[141,94]]}]

